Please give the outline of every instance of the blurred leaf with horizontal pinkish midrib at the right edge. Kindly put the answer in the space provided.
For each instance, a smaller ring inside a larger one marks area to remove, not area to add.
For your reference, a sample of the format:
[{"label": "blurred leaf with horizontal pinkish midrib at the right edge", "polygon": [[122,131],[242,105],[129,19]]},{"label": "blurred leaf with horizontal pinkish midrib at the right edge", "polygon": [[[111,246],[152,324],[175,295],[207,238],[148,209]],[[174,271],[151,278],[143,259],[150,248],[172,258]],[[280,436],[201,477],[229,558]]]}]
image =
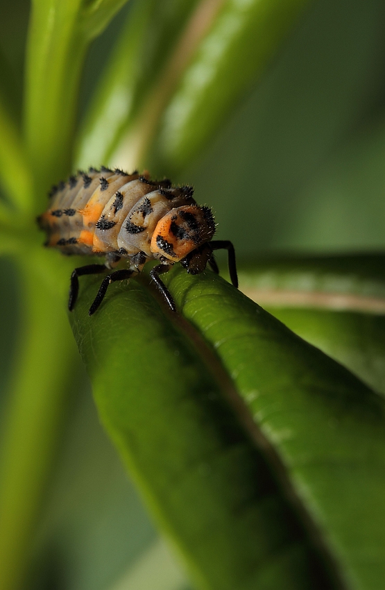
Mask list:
[{"label": "blurred leaf with horizontal pinkish midrib at the right edge", "polygon": [[266,257],[241,290],[377,391],[385,391],[385,255]]}]

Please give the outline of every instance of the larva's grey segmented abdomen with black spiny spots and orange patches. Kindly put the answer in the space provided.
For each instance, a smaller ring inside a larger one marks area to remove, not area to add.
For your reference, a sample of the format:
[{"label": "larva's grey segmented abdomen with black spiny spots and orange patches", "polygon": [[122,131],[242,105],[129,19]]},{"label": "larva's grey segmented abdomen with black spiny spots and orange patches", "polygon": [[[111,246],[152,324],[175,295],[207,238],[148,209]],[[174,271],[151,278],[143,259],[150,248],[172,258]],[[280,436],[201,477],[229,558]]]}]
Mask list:
[{"label": "larva's grey segmented abdomen with black spiny spots and orange patches", "polygon": [[169,180],[90,168],[54,187],[39,222],[48,235],[47,245],[63,253],[143,252],[151,257],[157,221],[172,208],[195,204],[191,195],[191,187],[173,187]]}]

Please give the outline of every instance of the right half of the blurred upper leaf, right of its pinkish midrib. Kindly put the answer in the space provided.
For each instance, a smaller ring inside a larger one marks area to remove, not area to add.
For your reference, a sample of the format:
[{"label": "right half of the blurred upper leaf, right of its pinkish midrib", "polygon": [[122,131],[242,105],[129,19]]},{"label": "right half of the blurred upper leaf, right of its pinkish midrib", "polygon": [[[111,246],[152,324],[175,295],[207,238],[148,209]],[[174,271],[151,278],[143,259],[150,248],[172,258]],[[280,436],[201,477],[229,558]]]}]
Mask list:
[{"label": "right half of the blurred upper leaf, right of its pinkish midrib", "polygon": [[226,0],[162,114],[150,162],[178,171],[261,76],[306,0]]}]

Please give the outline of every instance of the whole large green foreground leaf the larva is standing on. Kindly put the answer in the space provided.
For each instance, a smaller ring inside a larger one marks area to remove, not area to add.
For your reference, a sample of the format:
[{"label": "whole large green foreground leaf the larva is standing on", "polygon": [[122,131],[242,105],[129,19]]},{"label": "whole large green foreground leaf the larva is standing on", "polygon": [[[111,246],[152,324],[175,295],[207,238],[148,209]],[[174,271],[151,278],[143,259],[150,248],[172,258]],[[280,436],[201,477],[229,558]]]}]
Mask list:
[{"label": "whole large green foreground leaf the larva is standing on", "polygon": [[310,545],[340,587],[377,588],[384,399],[212,273],[164,280],[197,332],[134,281],[89,319],[100,278],[71,321],[101,419],[199,587],[314,588]]}]

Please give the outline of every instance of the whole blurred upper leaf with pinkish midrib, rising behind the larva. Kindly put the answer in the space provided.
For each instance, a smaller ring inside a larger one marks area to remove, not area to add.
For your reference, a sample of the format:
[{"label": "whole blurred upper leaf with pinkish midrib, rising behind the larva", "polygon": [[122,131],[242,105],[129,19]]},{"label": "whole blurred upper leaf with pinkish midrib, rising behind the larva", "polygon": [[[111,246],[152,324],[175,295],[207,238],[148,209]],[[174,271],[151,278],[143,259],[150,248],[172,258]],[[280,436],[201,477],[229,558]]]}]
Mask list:
[{"label": "whole blurred upper leaf with pinkish midrib, rising behind the larva", "polygon": [[305,3],[180,0],[172,10],[139,3],[80,137],[80,165],[103,158],[123,168],[147,164],[162,119],[151,169],[179,169],[260,74]]}]

